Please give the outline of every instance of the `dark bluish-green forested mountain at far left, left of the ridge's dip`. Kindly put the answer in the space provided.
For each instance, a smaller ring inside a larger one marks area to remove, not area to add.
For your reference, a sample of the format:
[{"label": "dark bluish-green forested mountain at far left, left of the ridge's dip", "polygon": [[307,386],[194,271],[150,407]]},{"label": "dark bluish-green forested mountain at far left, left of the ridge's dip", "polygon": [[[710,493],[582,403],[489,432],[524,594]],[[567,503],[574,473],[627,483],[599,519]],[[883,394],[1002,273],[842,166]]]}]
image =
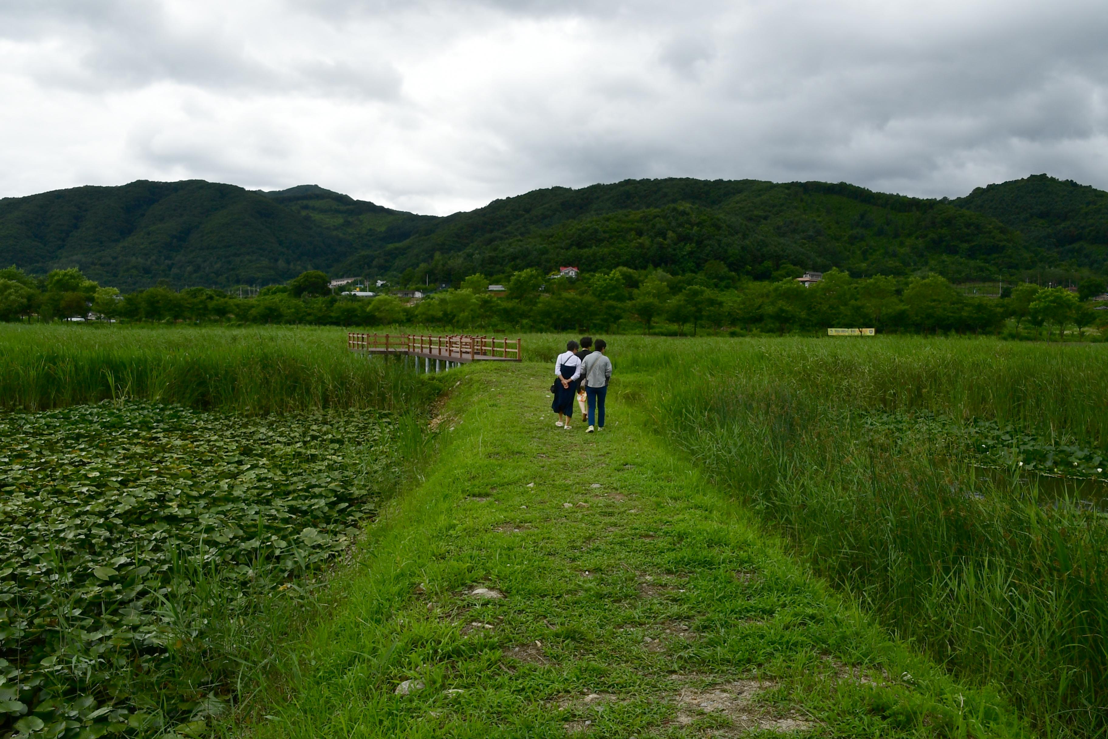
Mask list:
[{"label": "dark bluish-green forested mountain at far left, left of the ridge's dip", "polygon": [[123,289],[284,281],[352,250],[273,198],[203,181],[0,199],[0,264],[39,274],[75,266]]}]

